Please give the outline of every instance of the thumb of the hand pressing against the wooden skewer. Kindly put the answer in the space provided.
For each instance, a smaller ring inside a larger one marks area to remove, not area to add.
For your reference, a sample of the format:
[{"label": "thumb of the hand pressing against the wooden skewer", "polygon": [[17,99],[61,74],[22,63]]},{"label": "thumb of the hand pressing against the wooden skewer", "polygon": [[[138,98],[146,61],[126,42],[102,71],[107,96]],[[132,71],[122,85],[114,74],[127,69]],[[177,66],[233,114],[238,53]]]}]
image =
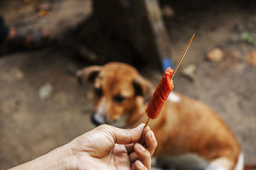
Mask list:
[{"label": "thumb of the hand pressing against the wooden skewer", "polygon": [[145,124],[140,124],[133,129],[120,129],[111,125],[100,125],[99,128],[108,133],[117,144],[129,144],[138,141],[141,138]]}]

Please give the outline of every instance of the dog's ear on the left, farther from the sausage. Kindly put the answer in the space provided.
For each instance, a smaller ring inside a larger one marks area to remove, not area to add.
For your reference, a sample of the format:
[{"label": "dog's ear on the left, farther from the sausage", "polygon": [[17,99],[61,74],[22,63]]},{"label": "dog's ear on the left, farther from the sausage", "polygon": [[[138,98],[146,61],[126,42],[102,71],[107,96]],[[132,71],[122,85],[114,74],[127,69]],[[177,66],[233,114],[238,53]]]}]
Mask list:
[{"label": "dog's ear on the left, farther from the sausage", "polygon": [[89,66],[79,69],[76,77],[79,85],[83,85],[86,81],[93,83],[100,72],[101,66]]}]

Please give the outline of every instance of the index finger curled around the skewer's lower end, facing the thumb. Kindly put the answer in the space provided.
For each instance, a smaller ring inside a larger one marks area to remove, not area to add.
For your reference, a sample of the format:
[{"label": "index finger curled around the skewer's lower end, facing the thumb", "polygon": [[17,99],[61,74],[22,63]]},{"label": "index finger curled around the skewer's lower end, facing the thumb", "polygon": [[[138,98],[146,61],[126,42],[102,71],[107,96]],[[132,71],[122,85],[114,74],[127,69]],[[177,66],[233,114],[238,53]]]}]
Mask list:
[{"label": "index finger curled around the skewer's lower end, facing the thumb", "polygon": [[154,135],[153,131],[148,131],[145,134],[145,146],[148,150],[148,152],[150,153],[150,155],[153,155],[153,153],[156,150],[156,146],[157,146],[157,141],[156,141],[156,137]]}]

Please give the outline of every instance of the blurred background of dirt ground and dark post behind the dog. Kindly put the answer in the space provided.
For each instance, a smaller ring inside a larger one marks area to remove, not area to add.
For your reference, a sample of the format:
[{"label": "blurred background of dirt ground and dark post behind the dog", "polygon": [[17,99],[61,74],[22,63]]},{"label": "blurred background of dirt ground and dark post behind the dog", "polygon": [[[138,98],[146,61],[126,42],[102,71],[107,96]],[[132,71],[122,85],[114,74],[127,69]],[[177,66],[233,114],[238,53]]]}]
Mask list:
[{"label": "blurred background of dirt ground and dark post behind the dog", "polygon": [[6,27],[51,32],[36,50],[0,55],[0,169],[95,127],[92,87],[78,87],[77,69],[127,62],[157,85],[193,33],[174,90],[215,110],[236,135],[245,163],[256,164],[255,8],[249,0],[0,1]]}]

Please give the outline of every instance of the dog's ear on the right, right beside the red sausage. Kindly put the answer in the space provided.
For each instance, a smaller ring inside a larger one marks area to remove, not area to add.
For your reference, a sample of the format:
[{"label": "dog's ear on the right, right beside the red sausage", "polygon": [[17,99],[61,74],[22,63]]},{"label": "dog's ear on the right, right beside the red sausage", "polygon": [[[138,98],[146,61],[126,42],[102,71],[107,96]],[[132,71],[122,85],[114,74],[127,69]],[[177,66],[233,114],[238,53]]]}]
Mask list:
[{"label": "dog's ear on the right, right beside the red sausage", "polygon": [[139,77],[132,81],[132,85],[134,87],[135,95],[143,96],[144,103],[148,103],[152,96],[152,84],[145,80],[145,78]]}]

